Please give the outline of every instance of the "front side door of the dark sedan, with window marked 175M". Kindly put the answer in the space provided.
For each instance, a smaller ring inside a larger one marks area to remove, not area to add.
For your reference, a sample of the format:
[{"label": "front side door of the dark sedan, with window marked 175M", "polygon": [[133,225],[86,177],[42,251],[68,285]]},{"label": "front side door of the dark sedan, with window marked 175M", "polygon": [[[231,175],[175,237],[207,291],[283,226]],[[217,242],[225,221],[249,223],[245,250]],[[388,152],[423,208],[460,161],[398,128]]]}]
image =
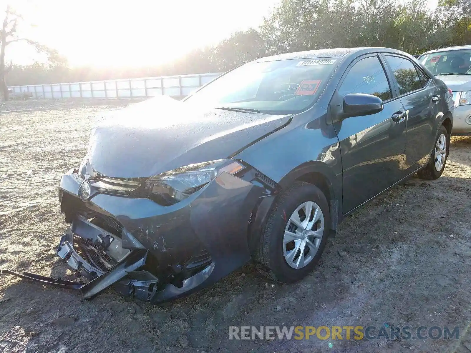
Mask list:
[{"label": "front side door of the dark sedan, with window marked 175M", "polygon": [[337,89],[337,106],[349,93],[379,96],[384,102],[379,113],[349,117],[334,124],[342,156],[343,214],[401,179],[406,116],[401,101],[392,92],[376,54],[363,56],[350,65]]}]

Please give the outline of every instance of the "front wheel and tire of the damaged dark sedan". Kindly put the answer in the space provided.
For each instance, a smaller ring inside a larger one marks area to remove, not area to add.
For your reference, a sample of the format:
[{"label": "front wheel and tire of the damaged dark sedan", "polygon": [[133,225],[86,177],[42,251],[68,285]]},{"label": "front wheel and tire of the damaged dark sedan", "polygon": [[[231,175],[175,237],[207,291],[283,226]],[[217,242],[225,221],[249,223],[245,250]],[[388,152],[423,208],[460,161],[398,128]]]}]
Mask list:
[{"label": "front wheel and tire of the damaged dark sedan", "polygon": [[[305,215],[308,213],[309,204],[312,206],[312,212],[310,213],[309,220],[305,222]],[[305,206],[299,209],[302,205]],[[317,209],[321,211],[320,214],[315,213]],[[313,224],[310,231],[304,230],[305,228],[301,229],[292,223],[291,218],[292,216],[294,217],[295,211],[299,220],[303,219],[304,222],[301,222],[307,224],[306,229],[309,228],[309,225]],[[316,221],[317,217],[319,218]],[[290,232],[285,236],[286,229],[289,229]],[[317,186],[309,183],[294,182],[292,187],[280,194],[268,216],[267,223],[262,228],[260,243],[254,256],[257,269],[264,276],[274,281],[283,283],[300,281],[312,271],[322,256],[329,231],[329,207],[322,191]],[[285,244],[284,242],[287,239],[291,239],[292,235],[296,235],[299,238],[295,238],[296,241],[293,240]],[[300,247],[302,247],[303,242],[304,256],[301,257],[301,249],[297,248],[297,244],[301,244]],[[296,249],[296,253],[293,252],[294,249]],[[317,249],[317,252],[314,252],[314,249]],[[296,254],[299,256],[296,256]],[[290,263],[292,265],[289,265],[288,260],[291,258],[292,261]],[[309,262],[303,265],[308,260]],[[299,268],[292,267],[296,265],[296,262],[299,262]]]}]

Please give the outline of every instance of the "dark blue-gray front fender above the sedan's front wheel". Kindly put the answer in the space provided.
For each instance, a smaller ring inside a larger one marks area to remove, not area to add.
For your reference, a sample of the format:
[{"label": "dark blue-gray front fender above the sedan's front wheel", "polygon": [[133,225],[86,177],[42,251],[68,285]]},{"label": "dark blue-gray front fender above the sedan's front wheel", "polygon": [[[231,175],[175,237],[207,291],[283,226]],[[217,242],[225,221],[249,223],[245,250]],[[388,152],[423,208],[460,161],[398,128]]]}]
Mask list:
[{"label": "dark blue-gray front fender above the sedan's front wheel", "polygon": [[[342,163],[339,139],[333,125],[326,124],[326,113],[324,107],[314,105],[308,111],[294,115],[289,124],[265,137],[263,143],[248,146],[234,158],[256,165],[281,190],[298,179],[316,184],[317,180],[309,180],[309,176],[317,173],[322,179],[317,186],[324,188],[330,199],[331,228],[335,230],[341,214]],[[276,196],[267,199],[260,201],[252,212],[255,217],[249,236],[253,233],[258,236]]]}]

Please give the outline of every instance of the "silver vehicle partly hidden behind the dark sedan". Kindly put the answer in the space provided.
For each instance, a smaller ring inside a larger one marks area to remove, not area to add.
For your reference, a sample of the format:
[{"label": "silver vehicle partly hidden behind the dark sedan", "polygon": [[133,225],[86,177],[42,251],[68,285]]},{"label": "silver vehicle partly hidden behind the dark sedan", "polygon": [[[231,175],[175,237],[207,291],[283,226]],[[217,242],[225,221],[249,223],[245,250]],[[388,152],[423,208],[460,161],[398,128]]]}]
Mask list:
[{"label": "silver vehicle partly hidden behind the dark sedan", "polygon": [[471,45],[430,50],[417,60],[453,91],[452,135],[471,136]]}]

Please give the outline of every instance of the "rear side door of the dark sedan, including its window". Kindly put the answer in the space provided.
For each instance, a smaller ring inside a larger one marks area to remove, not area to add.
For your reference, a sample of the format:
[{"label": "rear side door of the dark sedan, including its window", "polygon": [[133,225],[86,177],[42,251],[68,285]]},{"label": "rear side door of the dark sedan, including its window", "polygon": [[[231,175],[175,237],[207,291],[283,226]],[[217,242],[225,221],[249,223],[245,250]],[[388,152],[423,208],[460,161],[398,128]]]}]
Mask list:
[{"label": "rear side door of the dark sedan, including its window", "polygon": [[435,141],[440,91],[430,77],[404,56],[385,54],[407,116],[404,176],[427,163]]}]

